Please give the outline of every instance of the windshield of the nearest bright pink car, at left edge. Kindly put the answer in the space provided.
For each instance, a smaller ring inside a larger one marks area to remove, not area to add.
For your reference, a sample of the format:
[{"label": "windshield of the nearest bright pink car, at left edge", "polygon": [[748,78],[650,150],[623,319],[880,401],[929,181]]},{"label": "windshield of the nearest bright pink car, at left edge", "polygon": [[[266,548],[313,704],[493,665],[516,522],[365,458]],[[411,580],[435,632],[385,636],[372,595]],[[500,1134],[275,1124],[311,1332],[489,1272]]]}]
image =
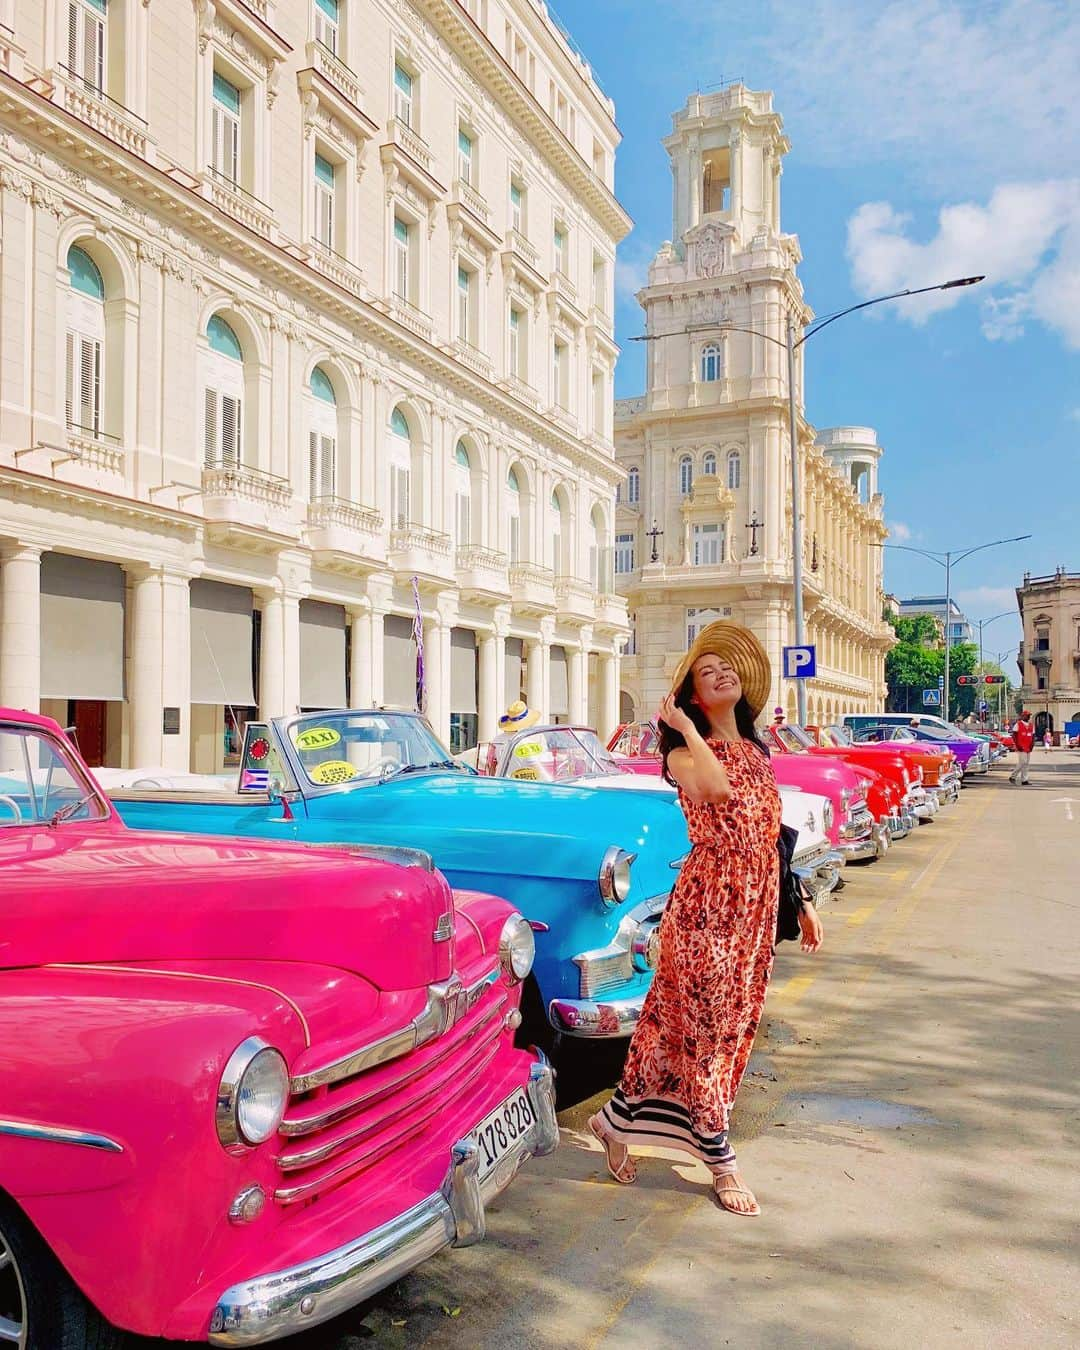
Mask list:
[{"label": "windshield of the nearest bright pink car, at left edge", "polygon": [[36,726],[0,724],[0,829],[107,815],[108,807],[66,745]]}]

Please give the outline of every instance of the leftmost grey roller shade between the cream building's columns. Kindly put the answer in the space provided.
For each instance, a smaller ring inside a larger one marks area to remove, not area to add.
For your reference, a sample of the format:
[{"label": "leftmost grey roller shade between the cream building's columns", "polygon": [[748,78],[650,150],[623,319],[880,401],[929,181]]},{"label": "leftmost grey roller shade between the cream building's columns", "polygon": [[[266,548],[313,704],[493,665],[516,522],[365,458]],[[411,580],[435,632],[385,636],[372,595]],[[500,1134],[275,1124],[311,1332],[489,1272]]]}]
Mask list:
[{"label": "leftmost grey roller shade between the cream building's columns", "polygon": [[42,698],[124,697],[124,570],[42,555]]}]

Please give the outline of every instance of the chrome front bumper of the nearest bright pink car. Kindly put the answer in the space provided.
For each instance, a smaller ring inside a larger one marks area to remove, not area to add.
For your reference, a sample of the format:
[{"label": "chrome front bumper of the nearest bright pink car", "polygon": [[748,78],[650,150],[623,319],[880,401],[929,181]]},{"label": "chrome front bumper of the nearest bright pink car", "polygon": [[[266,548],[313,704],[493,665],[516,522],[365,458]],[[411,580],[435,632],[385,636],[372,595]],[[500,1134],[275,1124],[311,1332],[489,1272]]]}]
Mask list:
[{"label": "chrome front bumper of the nearest bright pink car", "polygon": [[551,1153],[559,1142],[555,1072],[540,1052],[528,1094],[536,1122],[483,1181],[479,1145],[459,1139],[443,1188],[389,1223],[301,1265],[227,1289],[211,1319],[216,1346],[254,1346],[294,1335],[336,1318],[441,1251],[467,1247],[485,1234],[485,1206],[505,1189],[525,1158]]}]

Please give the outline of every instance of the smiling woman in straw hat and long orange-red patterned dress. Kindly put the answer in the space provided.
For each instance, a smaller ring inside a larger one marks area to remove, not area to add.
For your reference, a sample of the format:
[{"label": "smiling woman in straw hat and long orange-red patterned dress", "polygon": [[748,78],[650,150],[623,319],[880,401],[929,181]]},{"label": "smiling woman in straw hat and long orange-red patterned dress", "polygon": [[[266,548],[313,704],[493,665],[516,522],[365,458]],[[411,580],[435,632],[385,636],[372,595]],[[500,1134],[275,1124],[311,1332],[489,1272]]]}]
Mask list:
[{"label": "smiling woman in straw hat and long orange-red patterned dress", "polygon": [[[764,648],[718,621],[679,663],[657,725],[664,776],[679,790],[693,849],[660,925],[660,957],[630,1040],[622,1080],[589,1120],[608,1170],[637,1179],[634,1145],[702,1161],[724,1210],[760,1206],[728,1139],[772,971],[779,899],[780,796],[755,718],[768,698]],[[802,948],[821,946],[805,907]]]}]

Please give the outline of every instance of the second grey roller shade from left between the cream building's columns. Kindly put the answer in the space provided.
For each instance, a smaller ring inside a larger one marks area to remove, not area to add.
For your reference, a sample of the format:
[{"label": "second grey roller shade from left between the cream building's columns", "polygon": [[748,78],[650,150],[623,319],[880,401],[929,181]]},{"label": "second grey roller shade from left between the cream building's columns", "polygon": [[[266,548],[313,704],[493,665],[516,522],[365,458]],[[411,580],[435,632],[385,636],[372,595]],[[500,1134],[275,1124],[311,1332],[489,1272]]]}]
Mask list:
[{"label": "second grey roller shade from left between the cream building's columns", "polygon": [[251,590],[192,582],[192,702],[255,706]]}]

